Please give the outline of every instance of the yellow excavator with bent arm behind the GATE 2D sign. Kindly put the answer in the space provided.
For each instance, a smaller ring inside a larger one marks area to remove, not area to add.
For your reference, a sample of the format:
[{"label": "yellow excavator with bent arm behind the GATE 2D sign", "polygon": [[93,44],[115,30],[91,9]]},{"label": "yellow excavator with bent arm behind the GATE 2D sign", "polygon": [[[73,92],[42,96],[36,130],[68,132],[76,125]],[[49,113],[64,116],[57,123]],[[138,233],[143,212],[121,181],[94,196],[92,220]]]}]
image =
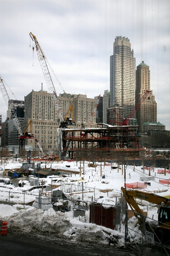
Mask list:
[{"label": "yellow excavator with bent arm behind the GATE 2D sign", "polygon": [[[126,202],[129,204],[131,210],[134,212],[134,216],[138,219],[138,224],[140,225],[139,229],[143,230],[143,222],[145,224],[145,230],[155,232],[158,238],[162,237],[162,229],[163,236],[165,238],[170,236],[170,200],[165,197],[161,197],[155,194],[143,192],[140,190],[131,190],[125,189],[121,187],[123,196],[126,199]],[[159,206],[158,209],[158,225],[149,226],[146,222],[146,216],[144,216],[143,210],[140,209],[137,202],[134,198],[139,198],[141,200],[157,204]],[[145,232],[144,230],[144,232]],[[156,238],[156,237],[155,237]],[[166,239],[165,239],[166,240]],[[169,240],[169,238],[168,238]]]}]

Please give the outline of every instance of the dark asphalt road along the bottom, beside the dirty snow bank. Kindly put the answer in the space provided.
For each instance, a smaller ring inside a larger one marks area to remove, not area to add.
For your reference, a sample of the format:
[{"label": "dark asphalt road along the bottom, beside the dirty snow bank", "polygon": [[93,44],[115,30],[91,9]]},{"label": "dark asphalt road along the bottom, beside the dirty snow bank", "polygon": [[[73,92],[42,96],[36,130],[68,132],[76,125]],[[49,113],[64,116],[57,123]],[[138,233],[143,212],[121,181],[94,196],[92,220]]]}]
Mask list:
[{"label": "dark asphalt road along the bottom, beside the dirty snow bank", "polygon": [[67,243],[66,241],[45,242],[39,238],[30,238],[8,233],[7,236],[0,235],[1,256],[134,256],[130,251],[114,249],[109,247],[90,247],[82,242],[80,244]]}]

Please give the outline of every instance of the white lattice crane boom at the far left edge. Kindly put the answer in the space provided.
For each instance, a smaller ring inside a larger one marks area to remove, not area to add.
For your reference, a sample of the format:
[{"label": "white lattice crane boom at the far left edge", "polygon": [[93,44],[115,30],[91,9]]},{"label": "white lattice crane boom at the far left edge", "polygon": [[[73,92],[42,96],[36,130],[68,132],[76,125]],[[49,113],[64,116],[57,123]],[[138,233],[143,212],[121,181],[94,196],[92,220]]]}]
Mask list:
[{"label": "white lattice crane boom at the far left edge", "polygon": [[22,136],[23,133],[21,131],[20,122],[18,121],[17,115],[16,115],[15,110],[14,110],[14,108],[12,106],[11,100],[9,99],[9,95],[8,95],[8,93],[6,91],[5,84],[4,84],[4,81],[3,81],[3,78],[2,78],[1,75],[0,75],[0,91],[2,93],[2,96],[3,96],[4,100],[5,100],[5,103],[6,103],[7,107],[9,109],[11,108],[11,118],[13,119],[15,127],[17,128],[18,135]]}]

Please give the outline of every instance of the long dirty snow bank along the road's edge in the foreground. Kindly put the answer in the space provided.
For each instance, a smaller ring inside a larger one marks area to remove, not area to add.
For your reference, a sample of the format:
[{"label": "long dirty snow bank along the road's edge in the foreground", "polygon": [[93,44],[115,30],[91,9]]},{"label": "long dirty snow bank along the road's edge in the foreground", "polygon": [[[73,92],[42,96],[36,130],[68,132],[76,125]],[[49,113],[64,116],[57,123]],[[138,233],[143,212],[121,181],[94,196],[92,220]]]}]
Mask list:
[{"label": "long dirty snow bank along the road's edge in the foreground", "polygon": [[[64,213],[57,212],[56,214],[53,209],[44,211],[30,207],[28,210],[17,211],[12,206],[7,207],[10,209],[10,216],[7,216],[5,221],[8,222],[9,232],[34,237],[48,235],[51,238],[63,238],[64,236],[65,239],[73,241],[86,241],[95,244],[97,242],[103,244],[111,242],[115,245],[123,245],[123,233],[76,219],[69,220]],[[11,215],[12,211],[13,215]],[[0,215],[0,221],[4,221],[3,215]]]}]

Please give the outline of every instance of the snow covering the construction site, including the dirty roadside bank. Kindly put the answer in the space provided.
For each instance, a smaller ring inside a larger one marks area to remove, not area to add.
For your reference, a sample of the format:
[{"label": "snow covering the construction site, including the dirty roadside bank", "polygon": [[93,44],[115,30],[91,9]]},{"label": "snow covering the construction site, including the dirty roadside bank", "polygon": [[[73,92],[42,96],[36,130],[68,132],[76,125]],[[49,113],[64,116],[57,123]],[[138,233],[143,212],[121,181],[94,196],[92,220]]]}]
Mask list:
[{"label": "snow covering the construction site, including the dirty roadside bank", "polygon": [[[100,163],[97,163],[98,166],[96,167],[96,171],[95,168],[89,168],[88,163],[89,162],[85,162],[84,174],[83,163],[81,163],[81,177],[80,174],[69,174],[68,177],[68,174],[66,173],[65,175],[67,177],[65,178],[54,175],[53,177],[42,178],[42,180],[45,181],[46,184],[48,184],[49,186],[51,184],[52,178],[52,184],[59,186],[55,190],[63,189],[63,191],[65,191],[68,196],[71,196],[72,194],[74,196],[80,197],[80,199],[82,199],[81,190],[77,191],[77,189],[75,189],[75,186],[78,187],[83,182],[84,201],[89,201],[90,203],[92,201],[93,196],[93,200],[95,199],[95,201],[97,201],[98,203],[105,204],[105,207],[108,207],[107,204],[115,205],[115,197],[120,197],[121,187],[124,186],[125,183],[124,166],[122,173],[122,169],[119,169],[119,172],[118,169],[111,170],[111,166],[104,166],[104,163],[102,163],[102,176],[105,175],[105,178],[102,178]],[[70,165],[71,167],[66,168],[66,165]],[[18,163],[9,163],[7,164],[7,166],[5,166],[6,169],[14,169],[19,167],[21,167],[21,164]],[[45,167],[45,164],[41,164],[41,167]],[[66,161],[63,163],[60,162],[58,164],[47,164],[47,168],[50,167],[54,169],[62,169],[63,171],[80,171],[80,162],[78,162],[78,166],[76,166],[76,162]],[[141,181],[140,177],[146,177],[148,179],[150,178],[149,171],[144,170],[143,172],[143,169],[141,169],[141,167],[142,166],[135,166],[135,171],[133,170],[133,166],[128,166],[126,168],[126,183],[140,182],[144,184],[144,181]],[[120,166],[120,168],[122,168],[122,166]],[[170,179],[170,174],[167,174],[166,176],[164,174],[158,174],[158,169],[160,168],[155,168],[154,172],[151,171],[151,178],[155,178],[155,180],[148,180],[147,182],[150,182],[150,186],[147,186],[146,188],[141,190],[152,192],[162,197],[170,197],[170,187],[167,184],[159,183],[159,180]],[[3,171],[2,174],[0,174],[0,176],[3,177]],[[8,178],[8,176],[6,176],[6,178]],[[39,189],[35,189],[32,190],[31,192],[28,192],[27,190],[30,188],[31,186],[28,182],[24,184],[24,187],[22,188],[14,187],[13,185],[6,185],[4,187],[0,187],[0,200],[8,202],[10,192],[10,195],[12,196],[10,198],[10,201],[13,201],[13,203],[15,203],[13,207],[10,206],[15,210],[13,215],[11,215],[12,213],[9,209],[7,209],[7,212],[10,212],[11,217],[9,217],[8,215],[4,215],[4,210],[2,212],[1,209],[3,208],[0,207],[0,219],[2,221],[6,220],[9,222],[9,230],[11,230],[12,232],[18,232],[23,234],[29,234],[33,232],[34,234],[36,233],[37,235],[48,234],[49,236],[65,236],[65,238],[73,239],[75,241],[78,241],[79,239],[84,239],[84,241],[88,241],[88,239],[91,239],[94,241],[98,240],[102,242],[108,242],[108,239],[114,240],[116,239],[114,238],[114,236],[116,236],[117,239],[115,240],[115,243],[123,244],[122,233],[118,232],[118,234],[115,230],[110,230],[92,223],[85,223],[84,217],[80,217],[80,220],[82,221],[80,222],[78,221],[78,218],[73,219],[71,212],[57,212],[56,215],[56,212],[53,209],[43,211],[40,209],[35,209],[35,207],[29,206],[26,207],[27,210],[20,210],[18,212],[16,209],[17,207],[20,206],[21,202],[23,203],[23,201],[25,201],[25,203],[29,203],[30,201],[34,201],[36,194],[39,193]],[[22,190],[25,191],[25,195],[21,194]],[[94,194],[96,198],[94,198]],[[99,199],[100,196],[103,196],[104,198]],[[140,208],[143,209],[144,212],[147,212],[147,216],[149,218],[158,218],[158,208],[154,207],[155,205],[144,200],[137,200],[137,202],[141,204]],[[4,218],[4,216],[7,217]],[[89,218],[89,211],[86,211],[85,218]],[[123,220],[124,216],[121,219],[121,231],[124,230],[124,225],[122,223]],[[139,234],[141,233],[140,230],[138,230],[137,219],[135,217],[129,219],[128,226],[131,227],[132,230],[136,230]],[[103,229],[105,229],[105,231],[111,234],[110,238],[105,232],[102,231]],[[135,236],[136,238],[138,238],[138,235],[136,234],[137,233],[135,233]],[[132,236],[134,236],[134,234]]]}]

